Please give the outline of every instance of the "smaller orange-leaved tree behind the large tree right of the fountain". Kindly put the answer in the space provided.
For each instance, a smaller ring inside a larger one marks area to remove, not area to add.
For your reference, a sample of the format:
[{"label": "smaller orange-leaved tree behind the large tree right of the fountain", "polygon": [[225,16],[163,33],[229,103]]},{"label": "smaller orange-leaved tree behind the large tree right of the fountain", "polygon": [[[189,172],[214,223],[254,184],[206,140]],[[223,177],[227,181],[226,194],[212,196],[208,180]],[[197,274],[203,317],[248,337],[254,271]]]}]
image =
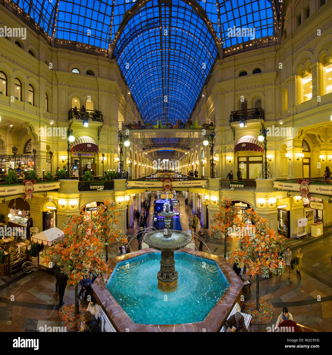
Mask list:
[{"label": "smaller orange-leaved tree behind the large tree right of the fountain", "polygon": [[226,257],[226,236],[229,234],[230,230],[234,230],[235,226],[241,229],[244,224],[240,218],[240,207],[233,205],[229,197],[224,197],[219,207],[219,211],[211,217],[209,237],[217,239],[225,238],[224,257]]}]

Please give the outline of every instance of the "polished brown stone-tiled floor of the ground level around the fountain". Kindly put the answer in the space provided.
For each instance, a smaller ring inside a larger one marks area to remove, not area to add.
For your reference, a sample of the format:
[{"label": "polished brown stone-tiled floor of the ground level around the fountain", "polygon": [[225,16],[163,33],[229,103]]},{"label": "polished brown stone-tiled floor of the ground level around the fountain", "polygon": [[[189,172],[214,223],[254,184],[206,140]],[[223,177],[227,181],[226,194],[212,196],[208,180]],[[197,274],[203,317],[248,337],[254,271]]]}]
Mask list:
[{"label": "polished brown stone-tiled floor of the ground level around the fountain", "polygon": [[[180,222],[183,230],[188,229],[190,207],[185,209],[184,198],[180,197]],[[152,208],[148,226],[152,226]],[[200,226],[198,226],[200,227]],[[134,235],[138,231],[135,224],[127,231]],[[196,232],[198,228],[196,229]],[[206,246],[203,251],[223,256],[224,240],[211,240],[207,233]],[[332,331],[332,227],[325,228],[321,237],[310,236],[304,239],[287,240],[287,245],[294,252],[298,247],[303,251],[302,280],[296,278],[292,271],[290,280],[287,273],[270,279],[260,278],[260,296],[275,307],[272,322],[266,325],[254,325],[251,331],[266,332],[267,326],[276,323],[282,308],[287,306],[294,321],[315,328],[320,332]],[[137,250],[137,239],[132,239],[131,250]],[[109,246],[109,257],[116,256],[119,245]],[[196,242],[198,247],[198,242]],[[234,250],[236,239],[227,239],[227,251]],[[256,280],[251,280],[251,293],[244,288],[246,300],[256,299]],[[80,286],[79,286],[80,290]],[[66,288],[64,302],[74,302],[74,287]],[[1,332],[38,332],[40,327],[61,327],[63,323],[58,316],[59,299],[55,293],[55,277],[52,270],[37,270],[31,274],[18,272],[11,277],[0,276],[0,331]]]}]

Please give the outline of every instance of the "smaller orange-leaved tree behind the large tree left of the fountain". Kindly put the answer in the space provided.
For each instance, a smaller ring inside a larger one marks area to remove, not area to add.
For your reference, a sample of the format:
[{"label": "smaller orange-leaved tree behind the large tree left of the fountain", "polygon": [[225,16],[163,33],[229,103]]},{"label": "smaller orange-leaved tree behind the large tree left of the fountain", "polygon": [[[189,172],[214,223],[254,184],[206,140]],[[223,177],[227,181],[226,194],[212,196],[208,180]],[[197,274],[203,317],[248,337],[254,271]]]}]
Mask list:
[{"label": "smaller orange-leaved tree behind the large tree left of the fountain", "polygon": [[99,205],[96,213],[91,216],[91,223],[94,230],[96,230],[97,237],[102,241],[106,249],[106,262],[108,261],[108,245],[111,241],[119,244],[127,242],[127,237],[123,231],[116,228],[118,224],[117,217],[124,214],[124,211],[116,211],[118,207],[119,204],[104,200]]}]

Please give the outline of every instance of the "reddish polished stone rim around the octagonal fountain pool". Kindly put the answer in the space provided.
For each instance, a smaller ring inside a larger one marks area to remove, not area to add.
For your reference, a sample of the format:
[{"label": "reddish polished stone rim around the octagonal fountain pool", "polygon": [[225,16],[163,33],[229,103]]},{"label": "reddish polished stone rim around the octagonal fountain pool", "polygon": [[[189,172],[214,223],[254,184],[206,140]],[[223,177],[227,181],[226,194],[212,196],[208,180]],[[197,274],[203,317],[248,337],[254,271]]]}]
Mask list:
[{"label": "reddish polished stone rim around the octagonal fountain pool", "polygon": [[[151,252],[158,253],[160,251],[152,248],[137,250],[123,256],[109,259],[107,267],[111,269],[112,273],[118,262]],[[132,319],[108,291],[106,284],[111,276],[111,273],[105,274],[104,283],[99,285],[100,277],[98,277],[92,285],[92,290],[94,296],[97,298],[98,305],[103,308],[117,332],[126,332],[128,329],[129,332],[202,332],[204,331],[203,329],[205,329],[205,332],[219,332],[235,302],[240,302],[239,300],[240,295],[242,294],[243,282],[233,271],[226,259],[221,256],[201,251],[194,251],[186,247],[175,251],[175,253],[176,252],[185,252],[187,254],[216,261],[219,268],[225,275],[225,278],[229,282],[228,289],[224,292],[221,298],[217,301],[216,305],[214,305],[212,310],[202,322],[183,324],[140,324],[132,321]]]}]

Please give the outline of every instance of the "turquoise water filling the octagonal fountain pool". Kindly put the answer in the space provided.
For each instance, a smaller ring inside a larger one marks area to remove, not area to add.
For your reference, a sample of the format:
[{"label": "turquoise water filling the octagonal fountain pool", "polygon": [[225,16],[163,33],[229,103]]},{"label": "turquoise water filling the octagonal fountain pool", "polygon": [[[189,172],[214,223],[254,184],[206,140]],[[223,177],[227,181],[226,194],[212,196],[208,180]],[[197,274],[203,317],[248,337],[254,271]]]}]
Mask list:
[{"label": "turquoise water filling the octagonal fountain pool", "polygon": [[158,289],[160,253],[121,261],[106,287],[134,323],[201,322],[227,290],[229,283],[217,263],[175,252],[178,285],[172,292]]}]

